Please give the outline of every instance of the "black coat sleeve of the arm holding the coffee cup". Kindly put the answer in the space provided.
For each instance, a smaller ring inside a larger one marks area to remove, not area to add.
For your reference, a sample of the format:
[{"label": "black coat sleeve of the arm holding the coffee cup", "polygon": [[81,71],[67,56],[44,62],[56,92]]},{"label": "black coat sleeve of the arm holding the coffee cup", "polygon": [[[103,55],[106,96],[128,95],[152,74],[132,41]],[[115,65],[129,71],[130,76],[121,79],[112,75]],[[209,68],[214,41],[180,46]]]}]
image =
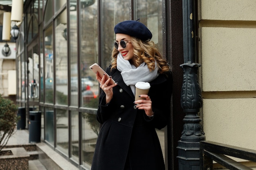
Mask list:
[{"label": "black coat sleeve of the arm holding the coffee cup", "polygon": [[173,89],[173,77],[171,72],[168,72],[166,75],[166,80],[161,86],[156,86],[152,89],[149,94],[152,100],[152,109],[154,112],[154,116],[152,119],[149,119],[145,115],[145,120],[150,121],[150,123],[154,124],[154,127],[157,129],[164,128],[168,119],[170,119],[171,115],[171,95]]}]

